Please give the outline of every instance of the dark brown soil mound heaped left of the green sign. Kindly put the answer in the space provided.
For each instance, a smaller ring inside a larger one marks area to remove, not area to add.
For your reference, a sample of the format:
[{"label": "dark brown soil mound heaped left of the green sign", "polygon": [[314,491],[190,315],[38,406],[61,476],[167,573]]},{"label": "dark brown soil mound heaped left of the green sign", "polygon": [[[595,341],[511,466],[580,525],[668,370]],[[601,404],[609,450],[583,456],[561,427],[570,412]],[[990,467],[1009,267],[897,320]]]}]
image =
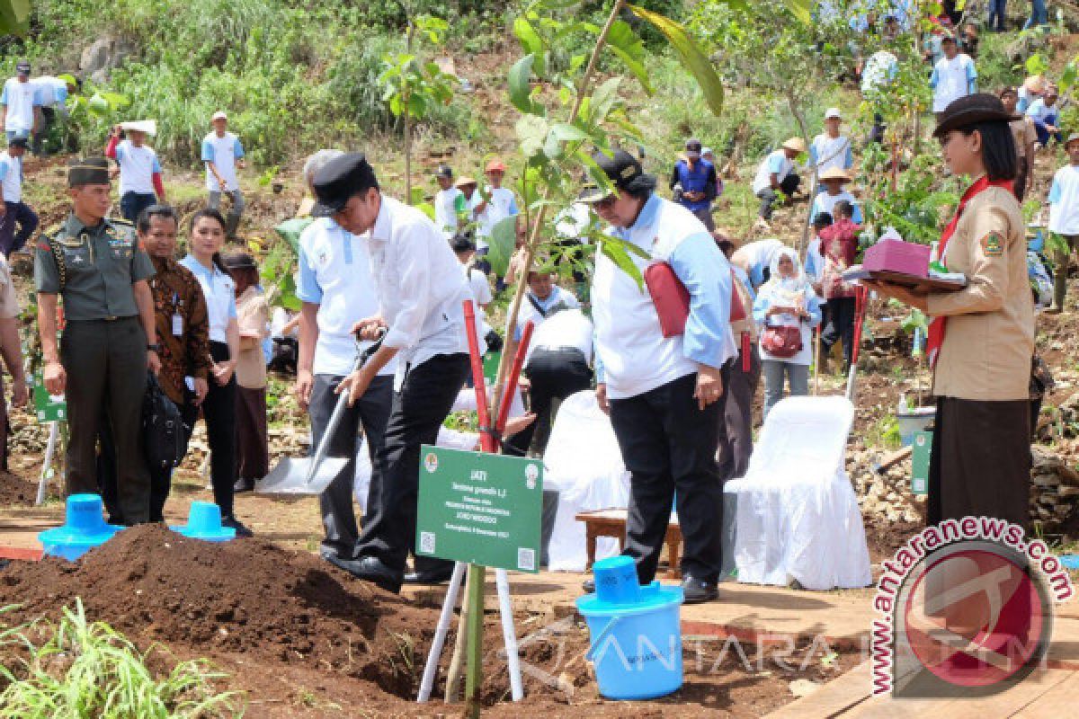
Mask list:
[{"label": "dark brown soil mound heaped left of the green sign", "polygon": [[21,604],[22,617],[56,616],[76,597],[88,617],[133,637],[319,666],[398,696],[413,691],[402,655],[411,660],[437,621],[437,610],[316,556],[257,539],[187,539],[161,525],[125,529],[77,563],[46,558],[0,575],[0,606]]}]

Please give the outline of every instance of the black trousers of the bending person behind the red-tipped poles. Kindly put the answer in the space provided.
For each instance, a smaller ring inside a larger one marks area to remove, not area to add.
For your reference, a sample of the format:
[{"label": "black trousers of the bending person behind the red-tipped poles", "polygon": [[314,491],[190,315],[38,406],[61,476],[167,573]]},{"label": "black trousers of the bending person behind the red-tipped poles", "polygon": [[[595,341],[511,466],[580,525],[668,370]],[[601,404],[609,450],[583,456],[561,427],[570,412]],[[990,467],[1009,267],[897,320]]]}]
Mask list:
[{"label": "black trousers of the bending person behind the red-tipped poles", "polygon": [[524,368],[532,389],[529,397],[532,400],[531,410],[536,418],[523,430],[506,440],[504,452],[515,457],[528,454],[532,439],[540,432],[537,452],[543,455],[550,437],[550,428],[555,424],[555,413],[551,411],[554,401],[562,401],[574,392],[592,386],[592,370],[584,352],[575,347],[561,349],[536,349],[529,358]]}]

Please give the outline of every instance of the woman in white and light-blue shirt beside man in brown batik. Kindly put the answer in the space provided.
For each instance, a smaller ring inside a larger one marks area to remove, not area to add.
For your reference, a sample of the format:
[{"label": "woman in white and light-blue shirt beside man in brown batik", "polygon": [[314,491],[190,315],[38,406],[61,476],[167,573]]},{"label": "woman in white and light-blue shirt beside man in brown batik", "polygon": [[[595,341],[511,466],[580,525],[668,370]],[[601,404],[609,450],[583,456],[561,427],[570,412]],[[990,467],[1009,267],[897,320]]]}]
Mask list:
[{"label": "woman in white and light-blue shirt beside man in brown batik", "polygon": [[206,439],[210,452],[214,501],[221,508],[221,524],[233,527],[240,537],[251,531],[233,514],[236,482],[236,359],[240,357],[240,326],[236,321],[236,285],[221,262],[224,218],[217,210],[199,210],[191,218],[190,253],[180,261],[190,269],[206,298],[209,319],[209,391],[203,400]]}]

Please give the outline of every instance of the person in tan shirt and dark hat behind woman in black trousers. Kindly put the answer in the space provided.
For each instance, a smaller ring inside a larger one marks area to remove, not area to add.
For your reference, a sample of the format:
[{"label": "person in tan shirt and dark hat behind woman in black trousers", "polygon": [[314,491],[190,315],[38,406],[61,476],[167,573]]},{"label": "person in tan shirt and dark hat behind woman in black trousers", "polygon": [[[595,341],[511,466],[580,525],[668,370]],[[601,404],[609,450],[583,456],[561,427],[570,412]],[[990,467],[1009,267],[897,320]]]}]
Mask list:
[{"label": "person in tan shirt and dark hat behind woman in black trousers", "polygon": [[247,252],[222,259],[236,284],[236,323],[240,356],[236,359],[236,483],[235,492],[250,492],[255,481],[270,471],[267,437],[267,363],[262,340],[267,336],[270,305],[259,287],[259,268]]}]

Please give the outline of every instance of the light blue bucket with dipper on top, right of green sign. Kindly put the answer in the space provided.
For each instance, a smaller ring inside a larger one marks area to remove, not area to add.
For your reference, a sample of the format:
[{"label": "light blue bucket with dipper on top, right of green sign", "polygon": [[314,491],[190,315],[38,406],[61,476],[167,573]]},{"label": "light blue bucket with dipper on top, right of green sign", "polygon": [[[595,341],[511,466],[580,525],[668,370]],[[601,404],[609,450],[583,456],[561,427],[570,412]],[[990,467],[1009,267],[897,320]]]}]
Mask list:
[{"label": "light blue bucket with dipper on top, right of green sign", "polygon": [[665,696],[682,686],[680,586],[637,583],[627,556],[601,559],[592,567],[596,594],[577,599],[588,622],[600,693],[614,700]]}]

